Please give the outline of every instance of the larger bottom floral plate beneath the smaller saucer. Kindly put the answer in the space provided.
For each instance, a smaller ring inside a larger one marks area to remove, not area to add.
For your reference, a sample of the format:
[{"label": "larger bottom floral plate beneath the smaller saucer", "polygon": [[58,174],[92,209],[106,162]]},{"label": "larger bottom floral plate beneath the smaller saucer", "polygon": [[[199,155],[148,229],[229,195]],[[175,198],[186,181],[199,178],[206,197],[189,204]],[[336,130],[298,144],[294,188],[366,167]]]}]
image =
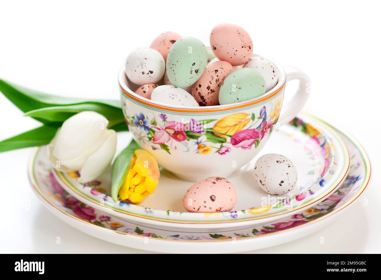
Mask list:
[{"label": "larger bottom floral plate beneath the smaller saucer", "polygon": [[327,226],[352,205],[368,185],[371,167],[360,144],[338,131],[351,156],[349,174],[338,189],[323,201],[304,211],[241,230],[203,233],[179,232],[139,226],[96,210],[64,190],[53,176],[43,149],[30,160],[29,178],[43,204],[70,226],[91,236],[123,246],[168,253],[233,253],[279,245]]}]

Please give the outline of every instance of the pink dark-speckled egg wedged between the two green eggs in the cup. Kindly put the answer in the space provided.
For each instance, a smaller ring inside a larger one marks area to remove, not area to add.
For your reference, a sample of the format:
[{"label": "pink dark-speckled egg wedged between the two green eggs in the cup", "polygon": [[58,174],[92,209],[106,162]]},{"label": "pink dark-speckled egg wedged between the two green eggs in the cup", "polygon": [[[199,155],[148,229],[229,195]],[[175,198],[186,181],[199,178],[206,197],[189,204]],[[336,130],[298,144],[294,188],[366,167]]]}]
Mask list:
[{"label": "pink dark-speckled egg wedged between the two green eggs in the cup", "polygon": [[216,61],[207,65],[192,87],[192,95],[200,106],[219,105],[219,89],[231,72],[233,72],[233,66],[226,61]]}]

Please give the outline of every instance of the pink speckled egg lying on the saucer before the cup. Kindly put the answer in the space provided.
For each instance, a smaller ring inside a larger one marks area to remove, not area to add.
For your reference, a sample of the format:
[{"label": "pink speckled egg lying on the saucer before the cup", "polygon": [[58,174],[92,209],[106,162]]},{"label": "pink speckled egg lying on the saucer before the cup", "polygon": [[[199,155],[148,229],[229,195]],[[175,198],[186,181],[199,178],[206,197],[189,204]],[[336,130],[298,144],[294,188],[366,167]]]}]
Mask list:
[{"label": "pink speckled egg lying on the saucer before the cup", "polygon": [[188,212],[230,211],[236,202],[234,186],[223,177],[208,177],[196,182],[182,199],[182,205]]}]

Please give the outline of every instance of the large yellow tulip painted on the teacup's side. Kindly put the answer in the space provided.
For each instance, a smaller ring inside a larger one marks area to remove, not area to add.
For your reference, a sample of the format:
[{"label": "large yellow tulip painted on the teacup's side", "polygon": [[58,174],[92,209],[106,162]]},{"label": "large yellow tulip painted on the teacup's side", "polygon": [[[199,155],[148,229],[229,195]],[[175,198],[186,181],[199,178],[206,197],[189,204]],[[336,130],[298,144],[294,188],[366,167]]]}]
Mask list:
[{"label": "large yellow tulip painted on the teacup's side", "polygon": [[216,136],[227,138],[228,136],[224,134],[219,134],[218,132],[233,135],[237,131],[242,130],[249,122],[250,118],[247,118],[249,114],[245,113],[235,113],[221,118],[213,126],[213,132]]}]

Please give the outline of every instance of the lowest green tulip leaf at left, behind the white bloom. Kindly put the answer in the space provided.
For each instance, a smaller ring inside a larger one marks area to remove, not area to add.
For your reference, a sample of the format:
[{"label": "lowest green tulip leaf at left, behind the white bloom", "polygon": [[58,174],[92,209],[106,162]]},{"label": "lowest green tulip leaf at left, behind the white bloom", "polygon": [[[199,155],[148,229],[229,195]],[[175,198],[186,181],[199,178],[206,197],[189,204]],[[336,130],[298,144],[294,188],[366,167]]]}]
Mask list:
[{"label": "lowest green tulip leaf at left, behind the white bloom", "polygon": [[58,130],[56,125],[43,125],[0,142],[0,152],[49,144]]}]

